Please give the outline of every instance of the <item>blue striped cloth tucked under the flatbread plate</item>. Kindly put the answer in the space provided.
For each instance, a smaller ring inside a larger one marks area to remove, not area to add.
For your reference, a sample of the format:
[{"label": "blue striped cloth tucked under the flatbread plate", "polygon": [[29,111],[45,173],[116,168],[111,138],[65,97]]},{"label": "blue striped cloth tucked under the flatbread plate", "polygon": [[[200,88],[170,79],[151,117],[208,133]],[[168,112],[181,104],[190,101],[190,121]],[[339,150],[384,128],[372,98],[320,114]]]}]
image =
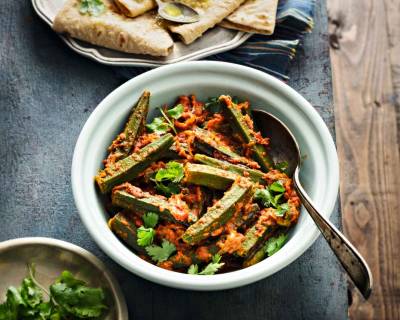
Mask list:
[{"label": "blue striped cloth tucked under the flatbread plate", "polygon": [[[228,52],[206,58],[227,61],[265,71],[288,80],[288,70],[304,34],[314,26],[315,0],[279,0],[275,32],[271,36],[253,35],[244,44]],[[124,77],[132,78],[145,68],[118,68]]]}]

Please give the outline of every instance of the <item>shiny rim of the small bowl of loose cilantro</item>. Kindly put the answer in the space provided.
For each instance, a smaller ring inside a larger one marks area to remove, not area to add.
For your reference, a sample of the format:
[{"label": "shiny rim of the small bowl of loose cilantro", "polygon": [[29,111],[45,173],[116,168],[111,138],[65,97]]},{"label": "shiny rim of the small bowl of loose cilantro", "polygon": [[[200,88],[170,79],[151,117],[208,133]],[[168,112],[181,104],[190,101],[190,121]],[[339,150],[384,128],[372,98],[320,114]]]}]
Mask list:
[{"label": "shiny rim of the small bowl of loose cilantro", "polygon": [[119,320],[128,319],[128,308],[126,306],[125,297],[122,294],[118,281],[114,278],[111,272],[108,271],[104,263],[101,262],[93,253],[73,243],[48,237],[25,237],[25,238],[5,240],[0,242],[0,252],[17,247],[23,247],[26,245],[46,245],[46,246],[57,247],[65,251],[70,251],[84,258],[90,264],[95,266],[97,269],[101,270],[104,279],[107,281],[107,284],[111,290],[112,296],[114,297],[115,310],[117,311],[118,319]]}]

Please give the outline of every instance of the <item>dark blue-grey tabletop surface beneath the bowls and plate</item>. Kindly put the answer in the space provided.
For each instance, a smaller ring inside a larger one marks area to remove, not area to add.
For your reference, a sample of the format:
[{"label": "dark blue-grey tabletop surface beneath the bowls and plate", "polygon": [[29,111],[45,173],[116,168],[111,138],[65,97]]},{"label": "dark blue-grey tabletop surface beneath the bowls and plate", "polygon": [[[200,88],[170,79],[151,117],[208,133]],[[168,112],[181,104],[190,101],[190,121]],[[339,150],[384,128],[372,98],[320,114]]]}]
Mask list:
[{"label": "dark blue-grey tabletop surface beneath the bowls and plate", "polygon": [[[90,112],[126,79],[73,53],[27,0],[0,2],[0,34],[0,240],[48,236],[90,250],[119,280],[131,319],[347,318],[346,277],[321,238],[276,275],[220,292],[162,287],[108,259],[80,222],[70,165]],[[333,133],[324,1],[291,77]],[[332,220],[340,221],[337,210]]]}]

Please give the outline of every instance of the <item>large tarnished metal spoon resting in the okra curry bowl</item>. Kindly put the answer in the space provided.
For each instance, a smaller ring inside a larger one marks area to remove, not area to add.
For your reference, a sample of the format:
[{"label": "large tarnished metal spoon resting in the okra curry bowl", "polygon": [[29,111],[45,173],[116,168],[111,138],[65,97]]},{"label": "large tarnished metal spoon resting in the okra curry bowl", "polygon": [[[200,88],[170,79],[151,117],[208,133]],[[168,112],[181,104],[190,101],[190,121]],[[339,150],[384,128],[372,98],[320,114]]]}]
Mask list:
[{"label": "large tarnished metal spoon resting in the okra curry bowl", "polygon": [[287,161],[288,168],[286,172],[289,176],[293,176],[294,187],[301,202],[356,287],[360,290],[364,298],[368,299],[372,289],[371,271],[364,258],[350,241],[318,212],[310,197],[301,186],[299,178],[300,150],[293,134],[286,125],[268,112],[254,110],[253,115],[261,133],[271,138],[270,156],[272,160],[275,163]]}]

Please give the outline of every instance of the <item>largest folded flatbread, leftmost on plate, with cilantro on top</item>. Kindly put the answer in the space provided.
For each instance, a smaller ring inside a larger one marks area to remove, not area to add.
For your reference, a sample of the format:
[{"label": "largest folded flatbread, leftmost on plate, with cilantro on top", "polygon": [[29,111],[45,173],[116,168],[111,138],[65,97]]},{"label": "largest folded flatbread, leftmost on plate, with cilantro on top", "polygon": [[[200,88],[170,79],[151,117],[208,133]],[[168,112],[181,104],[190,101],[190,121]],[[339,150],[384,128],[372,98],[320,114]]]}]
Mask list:
[{"label": "largest folded flatbread, leftmost on plate, with cilantro on top", "polygon": [[151,12],[127,18],[103,0],[106,10],[99,16],[79,12],[80,1],[68,0],[57,14],[53,29],[73,38],[129,53],[167,56],[174,45],[169,33],[157,24]]}]

